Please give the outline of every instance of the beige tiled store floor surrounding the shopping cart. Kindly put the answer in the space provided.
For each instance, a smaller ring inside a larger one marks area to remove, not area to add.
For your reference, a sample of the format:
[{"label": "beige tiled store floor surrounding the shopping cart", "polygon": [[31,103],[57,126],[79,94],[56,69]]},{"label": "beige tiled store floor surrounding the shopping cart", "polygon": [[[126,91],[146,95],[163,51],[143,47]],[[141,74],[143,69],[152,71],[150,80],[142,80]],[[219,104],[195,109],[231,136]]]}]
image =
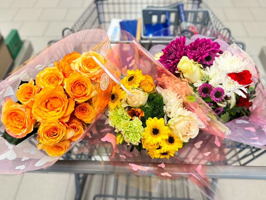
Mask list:
[{"label": "beige tiled store floor surrounding the shopping cart", "polygon": [[[71,27],[92,0],[0,0],[0,32],[6,37],[13,28],[30,40],[34,53],[48,41],[60,39],[62,29]],[[266,0],[205,0],[232,35],[246,43],[246,51],[265,77],[258,58],[266,46]],[[266,63],[265,63],[266,64]],[[266,154],[250,165],[266,166]],[[224,199],[265,199],[266,181],[219,180]],[[73,174],[26,173],[0,175],[0,199],[74,199]]]}]

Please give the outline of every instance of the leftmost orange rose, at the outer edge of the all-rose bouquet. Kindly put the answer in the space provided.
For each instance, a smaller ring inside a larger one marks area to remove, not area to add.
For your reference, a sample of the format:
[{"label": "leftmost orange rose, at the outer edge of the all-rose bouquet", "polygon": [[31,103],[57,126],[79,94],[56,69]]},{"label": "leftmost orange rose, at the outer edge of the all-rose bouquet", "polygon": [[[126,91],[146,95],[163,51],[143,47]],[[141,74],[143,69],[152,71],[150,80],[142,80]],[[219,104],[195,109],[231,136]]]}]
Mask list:
[{"label": "leftmost orange rose, at the outer edge of the all-rose bouquet", "polygon": [[25,137],[36,123],[31,117],[31,108],[15,103],[10,97],[3,102],[1,120],[6,132],[15,138]]}]

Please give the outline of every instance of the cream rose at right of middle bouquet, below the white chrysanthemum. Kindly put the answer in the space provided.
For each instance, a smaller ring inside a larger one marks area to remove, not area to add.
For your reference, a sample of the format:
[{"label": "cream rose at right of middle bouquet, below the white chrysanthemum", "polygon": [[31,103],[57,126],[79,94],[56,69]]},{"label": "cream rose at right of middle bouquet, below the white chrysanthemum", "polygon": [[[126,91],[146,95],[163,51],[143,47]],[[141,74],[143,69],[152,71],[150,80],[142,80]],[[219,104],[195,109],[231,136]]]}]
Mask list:
[{"label": "cream rose at right of middle bouquet, below the white chrysanthemum", "polygon": [[188,142],[190,138],[195,138],[199,133],[199,125],[197,121],[190,116],[171,118],[168,121],[167,126],[172,133],[180,137],[184,142]]}]

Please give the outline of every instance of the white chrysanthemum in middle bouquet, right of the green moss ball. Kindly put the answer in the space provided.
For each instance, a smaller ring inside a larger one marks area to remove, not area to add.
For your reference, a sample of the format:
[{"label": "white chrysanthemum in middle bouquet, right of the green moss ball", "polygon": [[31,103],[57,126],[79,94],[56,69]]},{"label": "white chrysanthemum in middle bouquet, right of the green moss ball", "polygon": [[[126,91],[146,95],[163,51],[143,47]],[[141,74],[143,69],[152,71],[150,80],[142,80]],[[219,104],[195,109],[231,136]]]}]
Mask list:
[{"label": "white chrysanthemum in middle bouquet, right of the green moss ball", "polygon": [[164,113],[169,118],[173,118],[183,112],[183,100],[177,93],[171,89],[162,89],[161,87],[156,87],[156,91],[163,97]]}]

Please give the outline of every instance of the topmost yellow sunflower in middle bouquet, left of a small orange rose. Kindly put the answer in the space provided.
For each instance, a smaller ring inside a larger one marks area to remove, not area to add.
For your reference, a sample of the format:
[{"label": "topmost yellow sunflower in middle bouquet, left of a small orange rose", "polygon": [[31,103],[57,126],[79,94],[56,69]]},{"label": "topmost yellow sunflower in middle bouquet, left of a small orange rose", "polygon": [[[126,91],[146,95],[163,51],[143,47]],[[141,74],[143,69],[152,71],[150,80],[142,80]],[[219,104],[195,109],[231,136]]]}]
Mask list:
[{"label": "topmost yellow sunflower in middle bouquet, left of a small orange rose", "polygon": [[142,75],[141,70],[127,70],[127,76],[121,80],[121,83],[127,88],[131,89],[133,87],[139,87],[141,81],[145,79],[145,76]]}]

